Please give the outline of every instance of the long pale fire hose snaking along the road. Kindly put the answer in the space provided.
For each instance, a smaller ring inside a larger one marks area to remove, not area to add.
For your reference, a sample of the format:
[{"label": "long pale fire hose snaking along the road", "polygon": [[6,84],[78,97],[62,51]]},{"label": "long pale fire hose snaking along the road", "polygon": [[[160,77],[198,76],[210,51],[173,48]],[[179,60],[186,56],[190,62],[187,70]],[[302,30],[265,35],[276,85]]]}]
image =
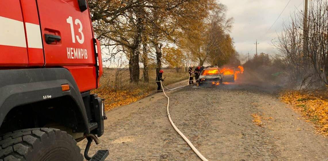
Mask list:
[{"label": "long pale fire hose snaking along the road", "polygon": [[[188,85],[189,85],[189,82],[188,82]],[[186,85],[186,86],[188,86],[188,85]],[[163,89],[163,82],[161,81],[161,86],[162,86],[162,89]],[[186,87],[186,86],[182,86],[182,87]],[[165,87],[165,86],[164,86]],[[167,90],[175,90],[175,89],[179,89],[179,88],[182,88],[182,87],[177,87],[177,88],[173,88],[173,89],[168,89],[168,88],[166,88]],[[189,139],[174,125],[174,123],[173,123],[173,121],[172,121],[172,119],[171,119],[171,116],[170,116],[170,111],[169,111],[169,105],[170,105],[170,98],[166,95],[166,93],[165,93],[165,91],[164,91],[164,89],[163,89],[163,93],[164,93],[164,95],[166,96],[166,98],[167,98],[167,107],[166,107],[166,110],[167,110],[167,116],[169,117],[169,120],[170,120],[170,122],[171,122],[171,124],[172,124],[172,126],[173,126],[173,128],[174,128],[174,130],[176,131],[176,132],[178,132],[180,135],[181,135],[181,137],[188,143],[188,145],[190,146],[190,148],[193,150],[193,151],[195,151],[195,153],[198,155],[198,157],[201,159],[201,160],[203,160],[203,161],[208,161],[195,147],[194,147],[194,145],[189,141]]]}]

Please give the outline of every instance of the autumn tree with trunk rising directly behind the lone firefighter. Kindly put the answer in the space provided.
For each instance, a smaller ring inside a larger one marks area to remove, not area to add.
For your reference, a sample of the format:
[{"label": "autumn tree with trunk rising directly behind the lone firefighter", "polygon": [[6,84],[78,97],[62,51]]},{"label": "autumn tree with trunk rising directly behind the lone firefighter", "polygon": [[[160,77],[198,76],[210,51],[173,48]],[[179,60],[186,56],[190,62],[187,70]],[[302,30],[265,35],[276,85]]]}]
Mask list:
[{"label": "autumn tree with trunk rising directly behind the lone firefighter", "polygon": [[[164,3],[167,2],[167,3]],[[182,30],[192,30],[193,20],[203,19],[213,0],[172,0],[160,3],[166,7],[152,9],[149,16],[152,27],[152,44],[156,54],[156,73],[161,68],[163,43],[177,43]],[[170,4],[168,6],[168,4]]]}]

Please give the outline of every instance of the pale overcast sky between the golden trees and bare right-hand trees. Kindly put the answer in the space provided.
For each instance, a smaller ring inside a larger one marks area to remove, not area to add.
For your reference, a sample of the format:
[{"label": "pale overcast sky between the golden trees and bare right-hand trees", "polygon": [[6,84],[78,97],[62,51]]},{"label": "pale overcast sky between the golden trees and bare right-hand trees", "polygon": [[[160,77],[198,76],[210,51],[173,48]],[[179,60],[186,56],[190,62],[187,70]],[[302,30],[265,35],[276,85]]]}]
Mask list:
[{"label": "pale overcast sky between the golden trees and bare right-hand trees", "polygon": [[[234,17],[234,28],[231,36],[234,38],[236,50],[241,54],[254,55],[256,48],[254,43],[258,41],[257,53],[275,53],[270,45],[271,40],[277,37],[282,29],[282,23],[286,21],[295,10],[301,11],[304,7],[303,0],[220,0],[228,7],[227,17]],[[285,8],[277,22],[281,11]],[[269,30],[269,31],[268,31]]]}]

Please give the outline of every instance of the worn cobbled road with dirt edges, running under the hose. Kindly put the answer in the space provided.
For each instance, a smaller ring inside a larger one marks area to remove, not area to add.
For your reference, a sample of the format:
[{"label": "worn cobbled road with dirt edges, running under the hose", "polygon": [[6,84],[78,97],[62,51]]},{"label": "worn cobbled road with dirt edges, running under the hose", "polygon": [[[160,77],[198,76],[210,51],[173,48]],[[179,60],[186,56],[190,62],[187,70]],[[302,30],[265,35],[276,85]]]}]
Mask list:
[{"label": "worn cobbled road with dirt edges, running under the hose", "polygon": [[[281,103],[276,90],[222,84],[167,94],[175,125],[210,161],[328,161],[328,139]],[[156,93],[107,112],[101,144],[93,143],[90,154],[108,149],[107,160],[200,160],[174,131],[166,104],[164,94]],[[255,113],[263,116],[261,127],[252,122]],[[81,152],[85,145],[79,143]]]}]

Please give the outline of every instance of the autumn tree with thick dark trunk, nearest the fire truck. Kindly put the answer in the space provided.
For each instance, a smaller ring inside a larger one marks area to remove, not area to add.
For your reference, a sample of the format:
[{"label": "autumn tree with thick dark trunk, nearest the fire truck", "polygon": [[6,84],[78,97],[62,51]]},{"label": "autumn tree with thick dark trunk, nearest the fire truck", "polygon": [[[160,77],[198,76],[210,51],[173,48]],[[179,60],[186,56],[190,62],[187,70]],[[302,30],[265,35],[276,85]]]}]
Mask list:
[{"label": "autumn tree with thick dark trunk, nearest the fire truck", "polygon": [[130,82],[139,81],[139,54],[142,44],[143,1],[89,1],[97,39],[110,55],[124,52],[129,60]]}]

